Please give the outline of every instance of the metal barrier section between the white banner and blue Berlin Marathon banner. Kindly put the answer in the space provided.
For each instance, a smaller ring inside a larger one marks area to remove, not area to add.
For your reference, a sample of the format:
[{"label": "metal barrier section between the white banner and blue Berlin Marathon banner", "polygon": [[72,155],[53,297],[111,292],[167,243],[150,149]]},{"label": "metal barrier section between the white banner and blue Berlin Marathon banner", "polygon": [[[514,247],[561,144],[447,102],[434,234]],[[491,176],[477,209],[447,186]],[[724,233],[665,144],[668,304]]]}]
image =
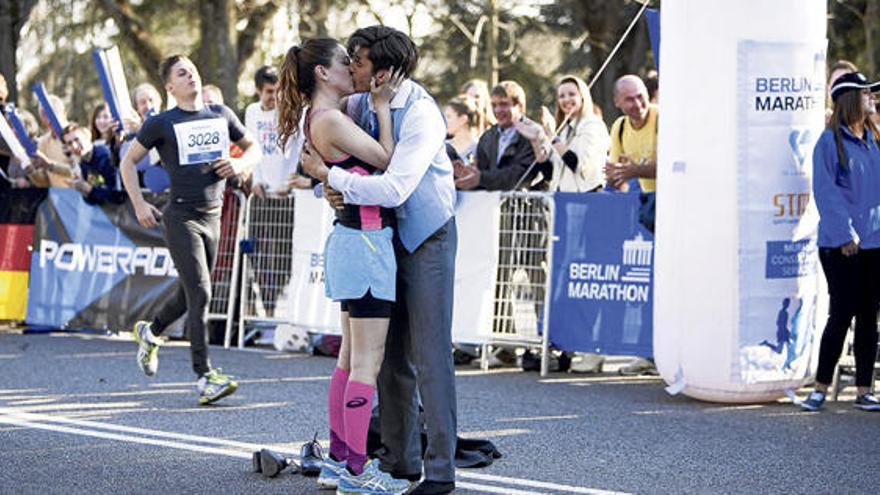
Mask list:
[{"label": "metal barrier section between the white banner and blue Berlin Marathon banner", "polygon": [[492,333],[483,346],[540,347],[541,374],[549,367],[550,267],[554,203],[551,193],[501,194],[498,270]]}]

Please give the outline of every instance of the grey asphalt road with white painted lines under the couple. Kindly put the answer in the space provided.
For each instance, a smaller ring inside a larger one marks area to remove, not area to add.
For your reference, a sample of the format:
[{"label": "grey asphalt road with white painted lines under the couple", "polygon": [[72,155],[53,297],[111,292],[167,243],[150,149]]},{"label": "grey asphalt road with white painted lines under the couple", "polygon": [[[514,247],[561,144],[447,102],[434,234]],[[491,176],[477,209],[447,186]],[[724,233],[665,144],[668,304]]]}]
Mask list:
[{"label": "grey asphalt road with white painted lines under the couple", "polygon": [[[319,493],[251,473],[250,452],[326,441],[332,359],[212,348],[241,388],[199,407],[185,343],[162,348],[154,378],[134,351],[127,336],[0,333],[0,493]],[[852,389],[808,414],[670,397],[609,368],[460,368],[460,434],[504,457],[459,470],[456,493],[876,493],[880,413],[853,409]]]}]

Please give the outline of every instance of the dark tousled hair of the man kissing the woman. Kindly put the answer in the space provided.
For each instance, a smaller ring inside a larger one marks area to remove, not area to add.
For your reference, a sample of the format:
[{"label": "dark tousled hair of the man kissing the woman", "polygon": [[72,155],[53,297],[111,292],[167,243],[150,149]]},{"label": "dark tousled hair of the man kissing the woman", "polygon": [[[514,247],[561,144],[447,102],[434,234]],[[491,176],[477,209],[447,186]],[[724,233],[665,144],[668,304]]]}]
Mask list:
[{"label": "dark tousled hair of the man kissing the woman", "polygon": [[410,77],[419,62],[416,44],[409,36],[388,26],[370,26],[358,29],[348,38],[348,53],[354,55],[358,48],[370,51],[367,58],[373,63],[373,74],[382,69],[402,69],[404,77]]}]

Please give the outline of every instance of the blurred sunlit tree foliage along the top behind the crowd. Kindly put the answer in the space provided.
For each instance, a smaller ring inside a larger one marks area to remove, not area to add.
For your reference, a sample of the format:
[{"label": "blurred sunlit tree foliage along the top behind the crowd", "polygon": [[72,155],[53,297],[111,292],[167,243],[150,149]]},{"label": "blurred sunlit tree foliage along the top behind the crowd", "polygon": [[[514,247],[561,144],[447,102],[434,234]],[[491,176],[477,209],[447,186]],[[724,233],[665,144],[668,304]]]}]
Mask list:
[{"label": "blurred sunlit tree foliage along the top behind the crowd", "polygon": [[[39,60],[38,67],[27,75],[21,86],[19,101],[35,109],[30,96],[30,85],[45,81],[51,92],[57,93],[69,107],[69,117],[86,122],[91,109],[102,100],[90,50],[93,46],[115,44],[122,58],[131,86],[150,79],[150,74],[138,63],[141,55],[123,42],[114,22],[100,6],[101,0],[42,0],[26,25],[24,35],[29,44],[19,47],[19,63],[24,59]],[[435,27],[431,33],[418,39],[422,55],[417,77],[437,96],[441,103],[458,94],[461,85],[472,78],[490,79],[489,53],[486,30],[480,38],[476,63],[472,66],[471,41],[452,19],[473,32],[481,16],[489,11],[489,0],[409,0],[407,11],[415,12],[415,2],[427,8]],[[869,7],[880,0],[828,0],[829,60],[850,59],[868,70],[872,60],[880,60],[880,16],[871,16]],[[241,9],[251,0],[238,0]],[[319,31],[337,16],[351,16],[352,9],[368,9],[381,18],[388,0],[283,0],[283,13],[289,16],[289,25],[296,30],[309,24],[321,24]],[[163,52],[189,53],[199,38],[201,19],[197,2],[176,0],[141,0],[126,4],[134,17],[150,33],[152,42]],[[499,20],[510,27],[513,38],[505,29],[499,30],[499,80],[513,79],[523,85],[528,95],[528,113],[538,116],[540,105],[552,107],[555,81],[562,74],[575,74],[590,80],[617,42],[628,23],[638,11],[635,0],[556,0],[527,2],[525,0],[498,0]],[[658,7],[660,2],[652,2]],[[39,15],[38,12],[43,12]],[[312,16],[312,17],[309,17]],[[304,19],[309,21],[305,22]],[[330,19],[330,20],[328,20]],[[874,29],[875,40],[868,51],[866,25]],[[410,19],[411,20],[411,19]],[[336,21],[338,23],[338,21]],[[238,26],[239,29],[241,25]],[[310,28],[311,29],[311,28]],[[271,37],[270,37],[271,39]],[[36,40],[36,41],[33,41]],[[512,46],[508,55],[504,53]],[[251,59],[266,60],[272,51],[264,43],[257,43],[257,53]],[[286,47],[284,47],[286,49]],[[274,48],[277,54],[277,47]],[[259,65],[259,64],[256,64]],[[250,78],[256,68],[247,64],[241,77]],[[602,105],[610,121],[616,111],[611,105],[611,83],[625,73],[644,74],[653,68],[653,57],[647,40],[644,21],[630,34],[615,60],[597,80],[592,93]],[[876,65],[876,63],[875,63]],[[877,74],[869,74],[876,77]],[[206,81],[216,83],[216,81]],[[252,95],[242,95],[240,101]]]}]

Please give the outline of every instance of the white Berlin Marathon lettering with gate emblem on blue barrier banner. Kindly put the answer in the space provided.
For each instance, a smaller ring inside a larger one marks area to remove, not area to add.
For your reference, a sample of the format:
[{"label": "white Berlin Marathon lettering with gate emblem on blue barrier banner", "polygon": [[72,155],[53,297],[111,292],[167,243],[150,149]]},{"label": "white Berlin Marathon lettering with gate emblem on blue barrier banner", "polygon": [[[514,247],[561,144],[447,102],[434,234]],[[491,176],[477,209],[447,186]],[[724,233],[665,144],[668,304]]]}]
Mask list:
[{"label": "white Berlin Marathon lettering with gate emblem on blue barrier banner", "polygon": [[598,301],[648,302],[654,242],[641,233],[621,246],[621,263],[571,263],[568,297]]}]

